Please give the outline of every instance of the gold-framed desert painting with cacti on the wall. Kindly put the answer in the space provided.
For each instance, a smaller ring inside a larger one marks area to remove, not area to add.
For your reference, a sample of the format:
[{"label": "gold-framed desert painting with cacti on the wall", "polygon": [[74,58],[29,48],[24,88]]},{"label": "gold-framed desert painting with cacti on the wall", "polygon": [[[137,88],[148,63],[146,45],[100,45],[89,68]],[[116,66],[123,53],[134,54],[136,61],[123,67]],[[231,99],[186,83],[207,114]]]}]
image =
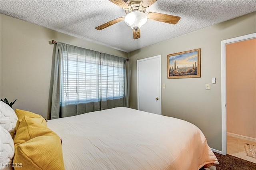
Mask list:
[{"label": "gold-framed desert painting with cacti on the wall", "polygon": [[167,55],[168,79],[201,77],[201,49]]}]

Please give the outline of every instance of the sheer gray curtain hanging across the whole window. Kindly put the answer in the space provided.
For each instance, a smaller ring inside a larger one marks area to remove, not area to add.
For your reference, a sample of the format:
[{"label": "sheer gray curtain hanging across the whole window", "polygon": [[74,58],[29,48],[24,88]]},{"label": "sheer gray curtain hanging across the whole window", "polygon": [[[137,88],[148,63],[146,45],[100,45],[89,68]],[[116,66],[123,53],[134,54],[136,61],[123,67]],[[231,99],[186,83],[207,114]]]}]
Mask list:
[{"label": "sheer gray curtain hanging across the whole window", "polygon": [[128,107],[126,59],[58,42],[51,119]]}]

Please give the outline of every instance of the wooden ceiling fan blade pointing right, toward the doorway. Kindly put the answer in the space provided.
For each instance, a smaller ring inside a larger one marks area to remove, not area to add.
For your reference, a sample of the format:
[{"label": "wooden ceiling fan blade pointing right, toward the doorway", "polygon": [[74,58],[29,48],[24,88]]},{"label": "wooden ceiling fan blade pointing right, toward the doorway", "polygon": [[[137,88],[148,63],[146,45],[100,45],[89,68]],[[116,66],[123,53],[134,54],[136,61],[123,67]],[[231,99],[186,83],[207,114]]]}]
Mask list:
[{"label": "wooden ceiling fan blade pointing right, toward the doorway", "polygon": [[148,12],[146,15],[150,20],[156,20],[156,21],[165,22],[168,24],[177,24],[177,22],[180,20],[179,16],[160,14],[157,12]]}]

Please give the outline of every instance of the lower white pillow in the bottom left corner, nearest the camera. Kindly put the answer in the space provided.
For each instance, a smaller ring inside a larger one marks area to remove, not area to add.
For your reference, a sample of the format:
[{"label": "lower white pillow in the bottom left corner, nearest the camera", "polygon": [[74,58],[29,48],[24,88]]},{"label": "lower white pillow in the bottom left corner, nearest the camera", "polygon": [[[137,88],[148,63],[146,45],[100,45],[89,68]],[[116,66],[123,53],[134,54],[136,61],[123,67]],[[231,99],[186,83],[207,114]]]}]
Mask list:
[{"label": "lower white pillow in the bottom left corner, nearest the camera", "polygon": [[1,149],[0,149],[0,160],[1,170],[12,169],[12,159],[14,157],[14,141],[10,133],[0,126],[1,128]]}]

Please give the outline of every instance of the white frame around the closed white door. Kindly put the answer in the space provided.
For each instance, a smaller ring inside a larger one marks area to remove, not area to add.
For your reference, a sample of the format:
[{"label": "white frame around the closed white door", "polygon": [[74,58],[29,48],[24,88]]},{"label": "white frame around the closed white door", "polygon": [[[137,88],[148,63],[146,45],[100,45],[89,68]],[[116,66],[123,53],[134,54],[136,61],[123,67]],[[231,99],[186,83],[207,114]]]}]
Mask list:
[{"label": "white frame around the closed white door", "polygon": [[153,56],[153,57],[147,57],[147,58],[144,58],[144,59],[138,59],[137,60],[137,109],[139,110],[140,109],[140,102],[139,102],[139,62],[140,61],[145,61],[145,60],[149,60],[149,59],[155,59],[155,58],[158,58],[159,59],[159,103],[160,103],[160,115],[162,115],[162,88],[161,88],[161,84],[162,84],[162,80],[161,80],[161,55],[156,55],[156,56]]}]

